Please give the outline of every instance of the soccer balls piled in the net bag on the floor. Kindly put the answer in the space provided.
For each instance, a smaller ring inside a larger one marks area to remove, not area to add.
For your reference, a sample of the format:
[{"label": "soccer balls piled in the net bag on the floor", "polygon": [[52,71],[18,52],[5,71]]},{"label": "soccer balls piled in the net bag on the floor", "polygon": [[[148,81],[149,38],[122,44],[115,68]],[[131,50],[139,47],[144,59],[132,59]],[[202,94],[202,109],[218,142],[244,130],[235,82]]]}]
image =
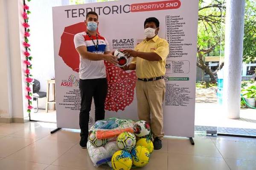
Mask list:
[{"label": "soccer balls piled in the net bag on the floor", "polygon": [[[154,150],[151,139],[150,126],[145,121],[134,123],[134,133],[122,132],[113,141],[97,139],[95,132],[90,133],[89,142],[93,147],[102,147],[111,152],[108,165],[113,170],[130,170],[131,167],[143,167],[148,164],[150,154]],[[89,153],[90,154],[90,153]]]}]

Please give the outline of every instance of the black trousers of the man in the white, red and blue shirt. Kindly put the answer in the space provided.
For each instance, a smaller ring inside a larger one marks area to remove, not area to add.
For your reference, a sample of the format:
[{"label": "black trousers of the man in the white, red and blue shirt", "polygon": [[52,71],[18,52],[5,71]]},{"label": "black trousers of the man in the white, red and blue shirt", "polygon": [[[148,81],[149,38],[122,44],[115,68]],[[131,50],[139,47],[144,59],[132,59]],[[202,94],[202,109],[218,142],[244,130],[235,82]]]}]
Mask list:
[{"label": "black trousers of the man in the white, red and blue shirt", "polygon": [[80,136],[88,137],[89,115],[92,100],[95,105],[95,121],[105,119],[105,99],[108,91],[106,78],[80,79],[81,109],[79,114]]}]

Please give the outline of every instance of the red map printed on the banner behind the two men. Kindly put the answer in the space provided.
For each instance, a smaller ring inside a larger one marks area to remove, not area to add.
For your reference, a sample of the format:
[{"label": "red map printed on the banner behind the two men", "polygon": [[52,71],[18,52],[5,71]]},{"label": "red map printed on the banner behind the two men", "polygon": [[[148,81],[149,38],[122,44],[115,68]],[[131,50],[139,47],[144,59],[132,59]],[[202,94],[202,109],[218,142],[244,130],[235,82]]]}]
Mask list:
[{"label": "red map printed on the banner behind the two men", "polygon": [[[85,30],[86,26],[84,22],[76,23],[65,27],[61,36],[59,56],[75,72],[79,72],[79,54],[75,49],[73,39],[74,35]],[[105,62],[105,66],[108,80],[108,94],[105,101],[105,109],[116,112],[118,110],[124,110],[134,100],[134,89],[137,80],[135,71],[125,72],[108,62]]]}]

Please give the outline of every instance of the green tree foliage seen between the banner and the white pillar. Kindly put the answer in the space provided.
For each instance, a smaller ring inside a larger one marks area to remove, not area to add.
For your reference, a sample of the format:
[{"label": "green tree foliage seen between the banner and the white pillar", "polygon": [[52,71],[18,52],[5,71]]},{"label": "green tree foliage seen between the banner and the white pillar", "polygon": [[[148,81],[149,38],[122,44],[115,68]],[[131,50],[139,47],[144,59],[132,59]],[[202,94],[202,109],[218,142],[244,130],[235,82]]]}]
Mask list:
[{"label": "green tree foliage seen between the banner and the white pillar", "polygon": [[198,49],[215,45],[210,56],[220,56],[220,51],[224,54],[225,5],[225,0],[199,0]]}]

